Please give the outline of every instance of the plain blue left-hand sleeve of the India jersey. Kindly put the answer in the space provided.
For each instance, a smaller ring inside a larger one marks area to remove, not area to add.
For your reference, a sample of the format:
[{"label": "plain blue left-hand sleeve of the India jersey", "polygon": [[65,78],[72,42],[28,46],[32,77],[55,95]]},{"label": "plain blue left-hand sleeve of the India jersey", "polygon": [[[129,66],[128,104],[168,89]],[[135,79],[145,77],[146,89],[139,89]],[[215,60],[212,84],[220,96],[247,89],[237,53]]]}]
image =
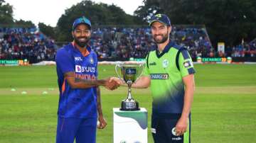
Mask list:
[{"label": "plain blue left-hand sleeve of the India jersey", "polygon": [[62,71],[63,74],[69,71],[75,71],[74,62],[71,56],[68,54],[68,51],[65,49],[58,50],[55,58],[57,68]]}]

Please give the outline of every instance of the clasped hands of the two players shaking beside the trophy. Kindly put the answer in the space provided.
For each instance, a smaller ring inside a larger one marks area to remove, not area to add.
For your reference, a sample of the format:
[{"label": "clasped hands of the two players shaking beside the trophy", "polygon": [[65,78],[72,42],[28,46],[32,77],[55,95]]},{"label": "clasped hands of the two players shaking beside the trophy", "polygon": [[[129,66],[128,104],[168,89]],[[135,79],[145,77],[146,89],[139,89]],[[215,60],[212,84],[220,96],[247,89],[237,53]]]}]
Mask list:
[{"label": "clasped hands of the two players shaking beside the trophy", "polygon": [[110,77],[105,79],[105,88],[111,91],[118,88],[120,85],[125,85],[125,82],[122,79],[117,77]]}]

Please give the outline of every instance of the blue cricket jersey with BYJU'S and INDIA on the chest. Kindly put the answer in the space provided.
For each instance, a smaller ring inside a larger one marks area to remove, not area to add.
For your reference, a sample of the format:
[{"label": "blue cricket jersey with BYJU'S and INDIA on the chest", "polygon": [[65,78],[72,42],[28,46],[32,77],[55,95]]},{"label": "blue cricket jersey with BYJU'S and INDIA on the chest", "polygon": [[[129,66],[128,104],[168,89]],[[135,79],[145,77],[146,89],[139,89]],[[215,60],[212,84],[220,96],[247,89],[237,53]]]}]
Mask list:
[{"label": "blue cricket jersey with BYJU'S and INDIA on the chest", "polygon": [[71,88],[64,74],[75,72],[79,79],[97,79],[97,55],[87,46],[88,55],[82,53],[70,43],[60,48],[56,54],[58,86],[60,98],[58,115],[62,118],[97,117],[97,91],[92,88]]}]

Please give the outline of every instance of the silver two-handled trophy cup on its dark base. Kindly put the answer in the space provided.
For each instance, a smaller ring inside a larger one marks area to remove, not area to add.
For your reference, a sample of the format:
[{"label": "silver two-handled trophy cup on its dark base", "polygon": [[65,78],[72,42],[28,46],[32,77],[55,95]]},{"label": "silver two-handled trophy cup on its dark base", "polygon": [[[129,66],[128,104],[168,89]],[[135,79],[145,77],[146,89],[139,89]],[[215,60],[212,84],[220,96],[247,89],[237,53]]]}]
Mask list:
[{"label": "silver two-handled trophy cup on its dark base", "polygon": [[[121,69],[122,76],[119,76],[117,69]],[[139,69],[141,69],[141,73],[138,74]],[[144,70],[143,64],[117,64],[115,67],[115,71],[119,77],[119,79],[124,79],[126,84],[128,84],[128,95],[127,98],[124,99],[121,103],[120,110],[140,110],[139,103],[132,98],[132,83],[136,81],[139,76],[142,76]]]}]

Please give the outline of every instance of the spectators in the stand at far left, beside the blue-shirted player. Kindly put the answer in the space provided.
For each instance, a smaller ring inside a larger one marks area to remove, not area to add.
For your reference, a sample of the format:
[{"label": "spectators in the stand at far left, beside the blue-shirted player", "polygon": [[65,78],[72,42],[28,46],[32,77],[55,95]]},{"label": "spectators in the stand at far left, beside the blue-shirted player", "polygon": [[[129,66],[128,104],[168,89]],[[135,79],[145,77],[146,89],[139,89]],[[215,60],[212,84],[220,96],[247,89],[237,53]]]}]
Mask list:
[{"label": "spectators in the stand at far left, beside the blue-shirted player", "polygon": [[0,28],[0,59],[54,60],[56,49],[36,28]]}]

